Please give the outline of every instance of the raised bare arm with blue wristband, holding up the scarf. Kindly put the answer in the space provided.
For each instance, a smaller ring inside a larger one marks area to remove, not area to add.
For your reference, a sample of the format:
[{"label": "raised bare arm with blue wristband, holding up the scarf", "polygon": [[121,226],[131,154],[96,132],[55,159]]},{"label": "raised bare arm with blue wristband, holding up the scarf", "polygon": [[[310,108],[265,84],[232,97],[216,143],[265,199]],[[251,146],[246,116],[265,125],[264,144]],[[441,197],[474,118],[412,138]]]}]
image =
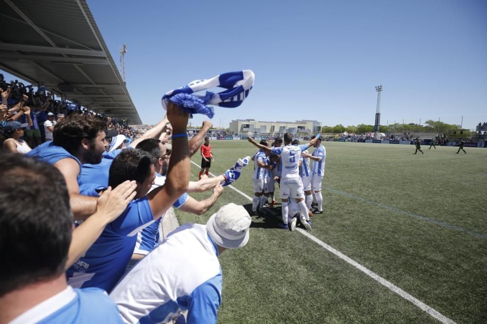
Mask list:
[{"label": "raised bare arm with blue wristband, holding up the scarf", "polygon": [[167,116],[174,135],[166,183],[147,195],[154,219],[166,213],[176,199],[186,192],[191,169],[186,129],[189,115],[170,102]]}]

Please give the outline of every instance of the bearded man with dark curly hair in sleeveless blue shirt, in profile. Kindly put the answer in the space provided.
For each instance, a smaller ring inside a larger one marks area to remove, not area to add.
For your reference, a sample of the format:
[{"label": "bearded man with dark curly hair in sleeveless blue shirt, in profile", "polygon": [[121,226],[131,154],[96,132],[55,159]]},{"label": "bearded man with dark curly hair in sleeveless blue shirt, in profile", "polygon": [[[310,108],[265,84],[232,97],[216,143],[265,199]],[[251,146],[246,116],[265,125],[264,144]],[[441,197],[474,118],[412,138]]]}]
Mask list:
[{"label": "bearded man with dark curly hair in sleeveless blue shirt, in profile", "polygon": [[54,127],[53,141],[37,146],[28,153],[53,164],[68,185],[75,220],[85,219],[96,211],[96,198],[79,194],[81,164],[101,162],[107,150],[106,126],[93,116],[73,114]]}]

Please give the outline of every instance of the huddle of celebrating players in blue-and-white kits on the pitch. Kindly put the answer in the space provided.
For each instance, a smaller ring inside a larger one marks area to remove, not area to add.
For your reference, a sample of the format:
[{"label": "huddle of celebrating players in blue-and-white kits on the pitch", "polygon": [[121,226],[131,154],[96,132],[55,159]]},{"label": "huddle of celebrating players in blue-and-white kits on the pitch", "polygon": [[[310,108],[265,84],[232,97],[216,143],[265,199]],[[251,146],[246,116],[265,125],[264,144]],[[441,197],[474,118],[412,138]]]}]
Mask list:
[{"label": "huddle of celebrating players in blue-and-white kits on the pitch", "polygon": [[[277,182],[282,214],[279,227],[294,231],[299,220],[305,229],[311,230],[309,216],[323,213],[321,182],[326,150],[321,145],[321,138],[316,136],[308,144],[300,144],[297,140],[293,141],[292,133],[285,133],[284,146],[281,146],[281,138],[276,138],[273,147],[269,147],[266,140],[257,143],[249,138],[248,141],[259,148],[253,157],[252,212],[264,212],[263,207],[268,198],[272,198],[271,206],[275,204],[273,194]],[[313,154],[308,152],[311,146],[315,147]],[[311,213],[313,196],[317,208]]]}]

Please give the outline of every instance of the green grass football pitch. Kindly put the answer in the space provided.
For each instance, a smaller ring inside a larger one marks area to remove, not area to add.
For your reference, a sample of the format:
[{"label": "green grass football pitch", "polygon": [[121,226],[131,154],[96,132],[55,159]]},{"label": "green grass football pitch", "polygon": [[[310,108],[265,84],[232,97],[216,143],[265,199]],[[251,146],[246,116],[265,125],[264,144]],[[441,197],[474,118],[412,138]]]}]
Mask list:
[{"label": "green grass football pitch", "polygon": [[[218,175],[257,149],[212,141]],[[456,323],[487,321],[487,149],[324,142],[322,215],[310,234]],[[311,149],[312,150],[312,149]],[[310,151],[311,151],[310,150]],[[201,162],[199,152],[193,158]],[[234,187],[252,196],[253,164]],[[191,179],[199,167],[191,165]],[[277,185],[276,185],[277,188]],[[193,194],[203,199],[210,193]],[[205,223],[226,203],[251,202],[225,188]],[[277,205],[275,212],[280,213]],[[274,216],[252,216],[250,240],[220,256],[220,323],[438,323]]]}]

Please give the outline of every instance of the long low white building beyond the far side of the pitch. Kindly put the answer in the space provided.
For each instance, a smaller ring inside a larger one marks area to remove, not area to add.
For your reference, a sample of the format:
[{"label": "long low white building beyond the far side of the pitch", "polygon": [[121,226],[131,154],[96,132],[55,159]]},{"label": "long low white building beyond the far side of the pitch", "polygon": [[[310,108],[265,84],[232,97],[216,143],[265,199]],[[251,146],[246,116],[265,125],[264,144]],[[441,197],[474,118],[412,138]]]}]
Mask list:
[{"label": "long low white building beyond the far side of the pitch", "polygon": [[321,131],[321,123],[316,120],[297,120],[296,122],[262,122],[255,119],[237,119],[230,122],[229,130],[244,136],[283,136],[292,133],[296,136],[310,136]]}]

